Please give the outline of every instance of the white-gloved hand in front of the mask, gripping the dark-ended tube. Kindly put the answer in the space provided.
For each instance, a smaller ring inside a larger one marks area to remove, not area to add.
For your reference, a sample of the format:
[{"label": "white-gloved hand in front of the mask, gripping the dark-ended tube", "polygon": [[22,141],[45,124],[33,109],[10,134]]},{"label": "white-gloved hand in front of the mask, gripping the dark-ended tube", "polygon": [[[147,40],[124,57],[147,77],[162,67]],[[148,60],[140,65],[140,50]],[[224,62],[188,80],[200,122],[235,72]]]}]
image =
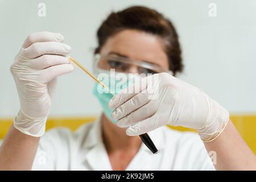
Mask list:
[{"label": "white-gloved hand in front of the mask, gripping the dark-ended tube", "polygon": [[229,113],[207,94],[168,73],[150,77],[142,78],[141,82],[146,84],[132,84],[109,102],[110,109],[114,109],[112,117],[118,119],[117,125],[128,127],[127,135],[172,125],[196,129],[201,139],[209,142],[224,130]]}]

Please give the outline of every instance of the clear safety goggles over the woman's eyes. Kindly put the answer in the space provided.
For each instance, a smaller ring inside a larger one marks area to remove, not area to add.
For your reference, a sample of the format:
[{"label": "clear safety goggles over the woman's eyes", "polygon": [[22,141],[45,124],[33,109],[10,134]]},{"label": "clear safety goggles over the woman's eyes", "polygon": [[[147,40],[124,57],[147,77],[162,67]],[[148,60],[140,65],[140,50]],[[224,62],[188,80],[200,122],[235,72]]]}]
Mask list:
[{"label": "clear safety goggles over the woman's eyes", "polygon": [[127,57],[122,57],[118,55],[103,55],[100,54],[94,55],[93,61],[93,69],[94,72],[96,70],[102,71],[110,71],[110,69],[114,69],[115,72],[122,72],[122,73],[138,73],[138,74],[154,74],[154,73],[162,73],[167,72],[171,73],[171,71],[167,69],[163,69],[159,65],[148,63],[146,61],[139,61],[139,60],[131,60]]}]

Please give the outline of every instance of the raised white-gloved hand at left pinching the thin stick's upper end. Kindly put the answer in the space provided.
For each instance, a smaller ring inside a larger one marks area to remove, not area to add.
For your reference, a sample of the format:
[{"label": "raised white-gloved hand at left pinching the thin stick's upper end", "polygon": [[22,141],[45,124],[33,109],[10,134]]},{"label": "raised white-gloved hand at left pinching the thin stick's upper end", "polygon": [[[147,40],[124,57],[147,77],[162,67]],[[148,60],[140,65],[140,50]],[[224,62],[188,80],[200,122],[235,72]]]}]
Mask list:
[{"label": "raised white-gloved hand at left pinching the thin stick's upper end", "polygon": [[57,76],[74,69],[65,56],[71,47],[63,40],[61,34],[51,32],[30,34],[10,67],[20,100],[14,126],[24,134],[44,134]]}]

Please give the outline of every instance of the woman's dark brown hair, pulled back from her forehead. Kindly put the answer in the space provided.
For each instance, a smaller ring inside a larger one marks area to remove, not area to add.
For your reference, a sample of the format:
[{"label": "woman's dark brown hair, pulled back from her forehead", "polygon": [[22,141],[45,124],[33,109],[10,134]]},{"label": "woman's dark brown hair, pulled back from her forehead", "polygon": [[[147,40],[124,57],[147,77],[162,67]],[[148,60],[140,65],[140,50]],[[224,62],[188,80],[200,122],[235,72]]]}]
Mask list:
[{"label": "woman's dark brown hair, pulled back from her forehead", "polygon": [[180,43],[174,26],[162,14],[143,6],[132,6],[111,13],[98,28],[98,47],[94,53],[101,51],[102,46],[110,36],[125,29],[141,30],[163,38],[170,65],[169,69],[174,72],[174,75],[176,72],[182,71]]}]

